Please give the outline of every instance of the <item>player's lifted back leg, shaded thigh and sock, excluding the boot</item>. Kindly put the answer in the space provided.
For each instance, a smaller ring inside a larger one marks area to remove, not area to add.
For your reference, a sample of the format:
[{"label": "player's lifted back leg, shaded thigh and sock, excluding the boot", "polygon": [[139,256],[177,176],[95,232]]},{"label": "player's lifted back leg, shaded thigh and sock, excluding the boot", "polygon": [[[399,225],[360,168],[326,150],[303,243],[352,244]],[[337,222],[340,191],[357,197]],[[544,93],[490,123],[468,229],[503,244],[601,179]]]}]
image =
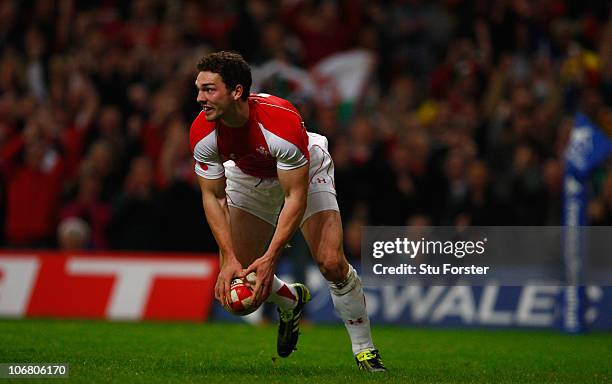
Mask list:
[{"label": "player's lifted back leg, shaded thigh and sock, excluding the boot", "polygon": [[[230,205],[229,211],[234,252],[242,267],[246,268],[264,254],[274,234],[274,226],[243,208]],[[266,301],[276,304],[281,310],[292,309],[298,302],[297,292],[274,275],[272,290]]]}]

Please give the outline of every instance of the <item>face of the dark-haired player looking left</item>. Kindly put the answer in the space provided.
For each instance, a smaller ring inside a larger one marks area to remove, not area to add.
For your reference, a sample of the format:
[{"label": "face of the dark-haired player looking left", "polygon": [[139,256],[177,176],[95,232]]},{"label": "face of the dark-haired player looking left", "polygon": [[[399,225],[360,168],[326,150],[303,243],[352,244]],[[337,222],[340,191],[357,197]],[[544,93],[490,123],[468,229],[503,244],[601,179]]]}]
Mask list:
[{"label": "face of the dark-haired player looking left", "polygon": [[197,101],[202,106],[206,121],[215,121],[227,113],[236,102],[218,73],[200,72],[196,78]]}]

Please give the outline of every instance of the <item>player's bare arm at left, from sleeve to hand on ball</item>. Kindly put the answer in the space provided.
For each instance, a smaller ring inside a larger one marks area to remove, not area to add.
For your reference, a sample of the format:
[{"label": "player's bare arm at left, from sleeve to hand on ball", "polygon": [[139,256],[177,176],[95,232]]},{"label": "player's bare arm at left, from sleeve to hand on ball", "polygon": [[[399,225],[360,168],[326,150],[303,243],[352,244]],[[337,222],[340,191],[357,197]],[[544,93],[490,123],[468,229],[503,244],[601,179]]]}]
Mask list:
[{"label": "player's bare arm at left, from sleeve to hand on ball", "polygon": [[215,285],[215,298],[226,305],[229,300],[230,282],[232,278],[241,275],[243,269],[232,246],[225,177],[206,179],[198,176],[198,182],[206,220],[219,246],[221,271]]}]

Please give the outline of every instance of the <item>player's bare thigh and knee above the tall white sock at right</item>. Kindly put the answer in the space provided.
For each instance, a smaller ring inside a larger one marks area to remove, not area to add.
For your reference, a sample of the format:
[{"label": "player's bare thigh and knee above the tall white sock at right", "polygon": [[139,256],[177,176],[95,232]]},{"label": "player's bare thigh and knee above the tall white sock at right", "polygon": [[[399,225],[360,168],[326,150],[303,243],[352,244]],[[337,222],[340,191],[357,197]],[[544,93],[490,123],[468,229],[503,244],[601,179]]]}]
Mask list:
[{"label": "player's bare thigh and knee above the tall white sock at right", "polygon": [[336,210],[319,211],[302,224],[302,233],[323,276],[340,282],[348,273],[348,262],[342,247],[342,221]]}]

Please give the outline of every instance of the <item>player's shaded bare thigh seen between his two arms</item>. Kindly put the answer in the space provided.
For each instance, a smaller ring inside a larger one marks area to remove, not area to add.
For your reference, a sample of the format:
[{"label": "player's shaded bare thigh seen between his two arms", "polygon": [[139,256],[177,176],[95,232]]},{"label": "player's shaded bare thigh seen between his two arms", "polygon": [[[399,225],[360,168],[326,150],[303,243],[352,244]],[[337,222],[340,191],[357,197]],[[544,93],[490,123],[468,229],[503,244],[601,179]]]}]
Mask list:
[{"label": "player's shaded bare thigh seen between his two arms", "polygon": [[246,268],[264,254],[274,226],[240,208],[230,206],[229,212],[234,252]]}]

